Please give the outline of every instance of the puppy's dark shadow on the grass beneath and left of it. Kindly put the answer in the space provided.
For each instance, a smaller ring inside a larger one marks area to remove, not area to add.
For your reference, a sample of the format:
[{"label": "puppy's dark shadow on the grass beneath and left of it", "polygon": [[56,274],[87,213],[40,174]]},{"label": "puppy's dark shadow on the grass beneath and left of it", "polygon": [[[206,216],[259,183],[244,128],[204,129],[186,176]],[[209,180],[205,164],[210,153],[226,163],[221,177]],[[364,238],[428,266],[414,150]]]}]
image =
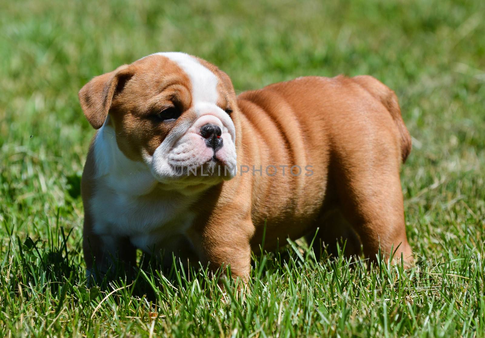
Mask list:
[{"label": "puppy's dark shadow on the grass beneath and left of it", "polygon": [[[163,258],[156,259],[156,256],[149,254],[139,255],[137,266],[127,267],[119,261],[114,261],[113,268],[102,278],[88,280],[85,269],[80,264],[82,259],[80,244],[71,248],[67,246],[67,240],[72,230],[65,233],[64,229],[60,228],[57,232],[59,240],[54,244],[52,239],[46,242],[40,240],[34,242],[29,236],[23,242],[18,237],[16,241],[13,240],[17,242],[15,247],[18,248],[14,250],[16,261],[21,263],[19,266],[28,267],[19,269],[16,277],[20,284],[46,282],[49,291],[61,298],[63,298],[62,294],[69,292],[69,288],[72,289],[72,292],[81,293],[82,299],[92,299],[99,292],[109,293],[119,289],[125,290],[124,293],[129,296],[156,302],[161,297],[166,298],[175,292],[185,292],[195,281],[198,283],[198,287],[208,295],[216,292],[218,285],[221,285],[221,279],[225,278],[229,284],[232,283],[230,268],[218,269],[212,273],[209,266],[202,266],[199,262],[183,263],[174,256],[171,257],[171,264],[165,260],[166,263],[163,265]],[[54,237],[56,236],[52,238]],[[285,263],[290,261],[302,264],[303,261],[298,257],[301,258],[302,253],[305,256],[305,248],[292,243],[293,245],[290,243],[276,251],[253,254],[252,271],[262,269],[264,272],[281,269]],[[300,255],[297,251],[300,251]],[[309,259],[316,263],[333,258],[333,255],[327,253],[324,248],[317,256],[313,254]]]}]

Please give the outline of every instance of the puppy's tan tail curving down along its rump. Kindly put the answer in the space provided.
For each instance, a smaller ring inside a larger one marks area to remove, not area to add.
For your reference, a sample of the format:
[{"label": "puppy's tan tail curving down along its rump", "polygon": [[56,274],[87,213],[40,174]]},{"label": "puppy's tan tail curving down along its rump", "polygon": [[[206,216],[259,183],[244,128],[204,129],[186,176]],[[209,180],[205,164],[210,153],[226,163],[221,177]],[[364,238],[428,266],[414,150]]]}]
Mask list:
[{"label": "puppy's tan tail curving down along its rump", "polygon": [[399,108],[396,94],[381,81],[369,75],[360,75],[353,77],[352,79],[361,87],[370,92],[373,97],[381,101],[384,107],[388,109],[401,136],[401,157],[404,163],[407,156],[411,152],[412,143],[411,135],[409,135],[409,131],[407,130],[403,117],[401,116],[401,108]]}]

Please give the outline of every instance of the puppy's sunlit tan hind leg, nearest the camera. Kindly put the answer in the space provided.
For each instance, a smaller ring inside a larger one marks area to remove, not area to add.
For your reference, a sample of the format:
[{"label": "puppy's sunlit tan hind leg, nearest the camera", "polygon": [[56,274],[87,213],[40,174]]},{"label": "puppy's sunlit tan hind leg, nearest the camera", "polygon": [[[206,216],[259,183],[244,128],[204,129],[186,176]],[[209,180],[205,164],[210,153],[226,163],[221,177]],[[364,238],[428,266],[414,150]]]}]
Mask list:
[{"label": "puppy's sunlit tan hind leg, nearest the camera", "polygon": [[[381,252],[406,266],[413,262],[404,224],[399,177],[401,158],[389,149],[341,156],[333,168],[340,209],[360,237],[371,260]],[[352,157],[352,156],[351,156]]]}]

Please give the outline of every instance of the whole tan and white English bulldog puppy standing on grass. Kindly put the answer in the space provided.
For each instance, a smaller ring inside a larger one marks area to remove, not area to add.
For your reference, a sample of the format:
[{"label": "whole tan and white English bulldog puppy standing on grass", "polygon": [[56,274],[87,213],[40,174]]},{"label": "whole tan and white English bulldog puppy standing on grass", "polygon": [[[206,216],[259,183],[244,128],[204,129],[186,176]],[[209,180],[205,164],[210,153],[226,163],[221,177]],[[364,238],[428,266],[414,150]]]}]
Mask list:
[{"label": "whole tan and white English bulldog puppy standing on grass", "polygon": [[213,64],[169,52],[93,78],[79,99],[97,129],[81,188],[88,277],[135,265],[139,248],[245,279],[265,227],[271,249],[317,228],[335,242],[348,224],[371,260],[380,247],[412,262],[399,177],[411,138],[373,77],[236,96]]}]

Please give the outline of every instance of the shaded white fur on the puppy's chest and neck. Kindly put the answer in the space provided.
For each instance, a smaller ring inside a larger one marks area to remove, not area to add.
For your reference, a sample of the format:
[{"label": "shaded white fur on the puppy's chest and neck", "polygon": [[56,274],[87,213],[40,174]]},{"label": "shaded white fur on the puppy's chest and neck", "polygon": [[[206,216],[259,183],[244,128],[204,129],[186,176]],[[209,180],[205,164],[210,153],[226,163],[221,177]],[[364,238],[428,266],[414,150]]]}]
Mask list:
[{"label": "shaded white fur on the puppy's chest and neck", "polygon": [[129,160],[116,145],[113,128],[103,125],[94,143],[96,186],[90,211],[93,230],[103,237],[127,236],[147,252],[162,248],[171,238],[183,235],[194,220],[190,205],[196,196],[157,189],[144,163]]}]

